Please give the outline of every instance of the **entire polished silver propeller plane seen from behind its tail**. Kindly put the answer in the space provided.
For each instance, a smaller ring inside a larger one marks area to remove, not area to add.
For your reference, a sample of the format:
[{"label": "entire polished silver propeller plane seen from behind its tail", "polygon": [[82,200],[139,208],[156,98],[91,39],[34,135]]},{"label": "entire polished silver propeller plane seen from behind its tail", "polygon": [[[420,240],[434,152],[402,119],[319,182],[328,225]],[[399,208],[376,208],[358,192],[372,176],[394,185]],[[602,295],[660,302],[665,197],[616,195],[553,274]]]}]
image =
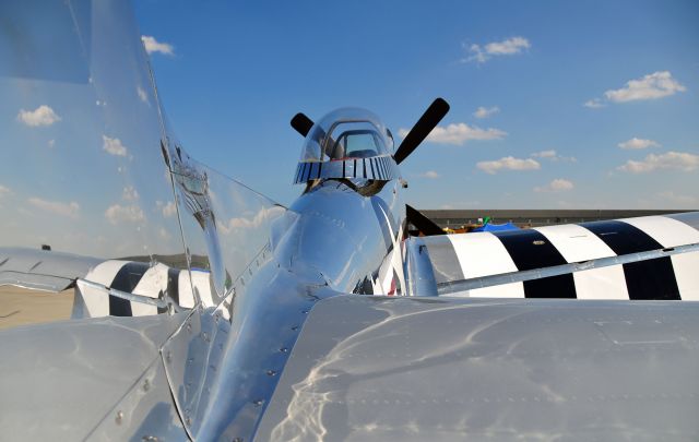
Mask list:
[{"label": "entire polished silver propeller plane seen from behind its tail", "polygon": [[398,148],[298,114],[284,207],[185,151],[126,2],[0,17],[0,285],[74,291],[0,332],[0,439],[699,438],[699,213],[441,235],[442,99]]}]

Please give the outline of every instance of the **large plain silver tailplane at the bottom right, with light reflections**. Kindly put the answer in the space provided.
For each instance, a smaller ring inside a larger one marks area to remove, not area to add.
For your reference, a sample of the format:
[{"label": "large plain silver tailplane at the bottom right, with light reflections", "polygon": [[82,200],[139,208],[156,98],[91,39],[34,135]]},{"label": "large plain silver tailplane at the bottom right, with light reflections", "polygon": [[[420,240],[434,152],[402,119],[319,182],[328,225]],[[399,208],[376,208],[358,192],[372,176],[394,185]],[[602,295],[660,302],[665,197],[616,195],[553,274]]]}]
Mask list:
[{"label": "large plain silver tailplane at the bottom right, with light reflections", "polygon": [[670,301],[327,299],[257,437],[696,440],[698,313]]}]

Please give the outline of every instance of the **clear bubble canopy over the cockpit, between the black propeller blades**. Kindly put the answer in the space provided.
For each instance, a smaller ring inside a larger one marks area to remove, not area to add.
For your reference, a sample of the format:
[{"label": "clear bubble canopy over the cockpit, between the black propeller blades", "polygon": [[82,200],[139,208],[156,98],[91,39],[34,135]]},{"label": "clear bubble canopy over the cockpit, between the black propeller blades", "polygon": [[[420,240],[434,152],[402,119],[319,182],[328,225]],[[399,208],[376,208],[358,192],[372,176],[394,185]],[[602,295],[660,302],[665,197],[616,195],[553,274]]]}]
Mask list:
[{"label": "clear bubble canopy over the cockpit, between the black propeller blades", "polygon": [[304,141],[295,182],[321,178],[392,179],[393,136],[379,117],[341,108],[316,122]]}]

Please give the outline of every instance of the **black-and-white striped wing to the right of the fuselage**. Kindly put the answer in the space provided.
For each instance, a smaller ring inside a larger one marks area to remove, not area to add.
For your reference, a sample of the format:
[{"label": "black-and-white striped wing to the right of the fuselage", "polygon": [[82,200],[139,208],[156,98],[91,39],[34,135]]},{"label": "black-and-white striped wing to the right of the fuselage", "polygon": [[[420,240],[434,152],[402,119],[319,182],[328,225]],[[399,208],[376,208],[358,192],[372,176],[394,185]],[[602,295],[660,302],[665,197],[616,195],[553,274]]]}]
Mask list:
[{"label": "black-and-white striped wing to the right of the fuselage", "polygon": [[407,240],[411,294],[699,300],[699,213]]}]

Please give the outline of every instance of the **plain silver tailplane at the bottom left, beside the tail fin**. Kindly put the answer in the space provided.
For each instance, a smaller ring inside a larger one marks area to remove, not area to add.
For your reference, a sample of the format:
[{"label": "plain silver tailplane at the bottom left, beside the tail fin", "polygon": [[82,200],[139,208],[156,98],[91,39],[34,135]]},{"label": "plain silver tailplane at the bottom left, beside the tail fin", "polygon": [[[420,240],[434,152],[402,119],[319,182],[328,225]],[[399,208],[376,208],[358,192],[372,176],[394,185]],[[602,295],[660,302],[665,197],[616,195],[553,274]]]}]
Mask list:
[{"label": "plain silver tailplane at the bottom left, beside the tail fin", "polygon": [[1,440],[186,440],[159,348],[188,313],[0,333]]}]

